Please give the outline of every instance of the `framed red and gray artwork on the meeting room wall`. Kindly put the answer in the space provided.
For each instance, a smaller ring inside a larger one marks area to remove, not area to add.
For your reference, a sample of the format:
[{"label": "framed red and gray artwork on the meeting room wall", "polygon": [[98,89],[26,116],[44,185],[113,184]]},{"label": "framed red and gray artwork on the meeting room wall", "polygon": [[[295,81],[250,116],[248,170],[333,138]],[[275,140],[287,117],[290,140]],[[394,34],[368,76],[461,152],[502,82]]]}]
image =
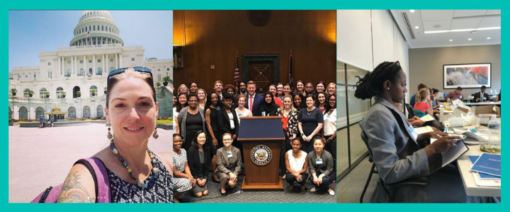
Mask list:
[{"label": "framed red and gray artwork on the meeting room wall", "polygon": [[491,64],[443,65],[443,88],[491,86]]}]

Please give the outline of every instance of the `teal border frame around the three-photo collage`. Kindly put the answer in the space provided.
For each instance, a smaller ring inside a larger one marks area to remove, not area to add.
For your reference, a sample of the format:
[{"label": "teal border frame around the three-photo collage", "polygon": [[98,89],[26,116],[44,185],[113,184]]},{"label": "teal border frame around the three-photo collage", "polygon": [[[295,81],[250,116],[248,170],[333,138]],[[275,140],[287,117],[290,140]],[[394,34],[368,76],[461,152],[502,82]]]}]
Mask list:
[{"label": "teal border frame around the three-photo collage", "polygon": [[[318,9],[318,10],[337,10],[337,9],[501,9],[502,10],[502,39],[509,38],[507,35],[510,27],[509,16],[506,16],[506,8],[509,8],[508,1],[8,1],[3,3],[0,11],[0,28],[3,33],[1,36],[1,64],[8,69],[8,11],[9,10],[84,10],[84,9],[106,9],[106,10],[179,10],[179,9]],[[36,36],[36,35],[35,35]],[[509,48],[502,42],[502,58],[508,56]],[[506,64],[502,64],[502,70],[506,70]],[[0,76],[1,87],[4,92],[0,93],[0,99],[8,105],[8,70],[2,72]],[[502,71],[502,79],[510,79],[509,71]],[[502,90],[510,89],[508,84],[502,84]],[[505,92],[505,91],[503,91]],[[506,111],[506,105],[502,105],[502,110]],[[1,169],[4,171],[0,185],[0,201],[3,203],[4,210],[35,210],[35,211],[91,211],[91,210],[125,210],[125,211],[145,211],[158,209],[161,211],[194,211],[194,210],[229,210],[229,211],[502,211],[506,208],[506,199],[502,199],[502,204],[86,204],[76,206],[73,204],[8,204],[8,127],[5,120],[8,118],[8,111],[0,112],[0,119],[4,120],[4,126],[0,128],[1,135],[6,138],[3,140],[2,149],[4,150],[3,159],[0,162]],[[508,117],[502,119],[510,120]],[[510,122],[510,121],[509,121]],[[502,126],[506,127],[505,124]],[[503,138],[509,138],[509,131],[502,131]],[[507,139],[504,139],[507,140]],[[510,141],[510,139],[508,139]],[[503,148],[510,148],[510,143],[502,142]],[[509,166],[510,167],[510,166]],[[509,173],[505,168],[504,173]],[[506,174],[503,174],[506,176]],[[510,181],[509,181],[510,182]],[[502,187],[506,187],[506,181]],[[504,196],[506,189],[502,190]],[[508,208],[506,209],[508,210]]]}]

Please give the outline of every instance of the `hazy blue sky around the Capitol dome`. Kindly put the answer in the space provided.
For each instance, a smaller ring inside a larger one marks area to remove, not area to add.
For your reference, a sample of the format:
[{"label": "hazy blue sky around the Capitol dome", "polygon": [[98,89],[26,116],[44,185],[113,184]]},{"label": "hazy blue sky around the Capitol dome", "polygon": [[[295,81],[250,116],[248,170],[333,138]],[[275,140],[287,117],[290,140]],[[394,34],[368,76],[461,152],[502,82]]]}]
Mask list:
[{"label": "hazy blue sky around the Capitol dome", "polygon": [[[144,57],[172,58],[171,11],[109,11],[125,46],[142,45]],[[83,11],[9,11],[9,72],[38,66],[39,53],[69,47]]]}]

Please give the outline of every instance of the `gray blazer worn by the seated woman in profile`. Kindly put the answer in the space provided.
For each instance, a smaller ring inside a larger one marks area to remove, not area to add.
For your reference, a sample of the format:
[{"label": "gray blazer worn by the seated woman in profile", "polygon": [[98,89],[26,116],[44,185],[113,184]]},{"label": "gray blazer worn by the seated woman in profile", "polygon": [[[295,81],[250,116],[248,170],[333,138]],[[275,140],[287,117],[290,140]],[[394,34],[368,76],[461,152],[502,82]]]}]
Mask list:
[{"label": "gray blazer worn by the seated woman in profile", "polygon": [[[392,111],[399,114],[404,127],[399,126],[399,121],[395,119]],[[392,184],[414,177],[424,177],[438,170],[437,158],[429,158],[426,155],[424,150],[426,141],[421,139],[421,136],[414,139],[409,131],[410,124],[407,119],[387,100],[378,98],[360,126],[367,136],[375,166],[385,183]]]}]

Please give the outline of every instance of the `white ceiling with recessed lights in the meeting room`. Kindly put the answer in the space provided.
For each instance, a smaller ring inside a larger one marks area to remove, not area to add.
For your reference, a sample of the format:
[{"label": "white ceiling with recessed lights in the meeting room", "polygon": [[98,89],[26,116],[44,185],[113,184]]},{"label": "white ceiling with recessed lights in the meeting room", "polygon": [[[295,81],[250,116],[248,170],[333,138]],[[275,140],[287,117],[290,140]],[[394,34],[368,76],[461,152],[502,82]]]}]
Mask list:
[{"label": "white ceiling with recessed lights in the meeting room", "polygon": [[[424,33],[424,31],[501,27],[500,10],[415,10],[414,13],[409,10],[391,10],[391,13],[409,48],[501,44],[501,29],[476,30],[475,33],[471,31]],[[402,13],[407,15],[415,39],[412,39]],[[490,37],[490,40],[487,37]],[[469,38],[471,40],[468,40]]]}]

